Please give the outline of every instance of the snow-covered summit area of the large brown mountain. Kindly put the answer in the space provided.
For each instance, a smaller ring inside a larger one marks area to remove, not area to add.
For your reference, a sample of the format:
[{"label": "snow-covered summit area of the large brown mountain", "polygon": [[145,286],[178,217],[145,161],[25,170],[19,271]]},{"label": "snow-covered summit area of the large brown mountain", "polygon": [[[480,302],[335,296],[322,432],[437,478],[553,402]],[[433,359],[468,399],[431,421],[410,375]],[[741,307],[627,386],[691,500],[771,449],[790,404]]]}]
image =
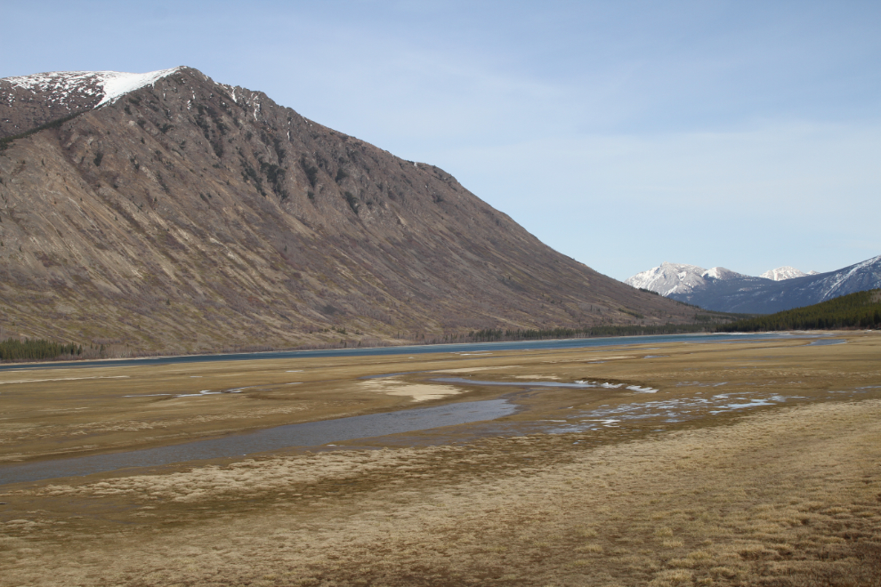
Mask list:
[{"label": "snow-covered summit area of the large brown mountain", "polygon": [[98,108],[117,101],[128,92],[155,84],[159,79],[180,69],[161,69],[143,74],[119,71],[50,71],[32,76],[5,77],[4,81],[32,92],[47,93],[53,101],[61,104],[69,101],[74,93],[95,98],[101,96],[101,101],[95,104],[95,108]]}]

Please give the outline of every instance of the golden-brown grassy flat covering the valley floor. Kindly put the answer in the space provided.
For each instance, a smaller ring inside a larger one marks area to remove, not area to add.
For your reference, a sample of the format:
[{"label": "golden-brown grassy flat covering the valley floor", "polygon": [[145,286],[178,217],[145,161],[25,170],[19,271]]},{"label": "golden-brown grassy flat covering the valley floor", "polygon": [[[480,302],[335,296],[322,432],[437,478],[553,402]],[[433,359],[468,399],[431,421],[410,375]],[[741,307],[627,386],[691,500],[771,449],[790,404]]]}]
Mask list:
[{"label": "golden-brown grassy flat covering the valley floor", "polygon": [[[881,585],[881,334],[836,338],[3,372],[5,464],[502,396],[521,411],[0,486],[0,585]],[[360,379],[389,373],[408,374]],[[432,381],[450,376],[621,385]]]}]

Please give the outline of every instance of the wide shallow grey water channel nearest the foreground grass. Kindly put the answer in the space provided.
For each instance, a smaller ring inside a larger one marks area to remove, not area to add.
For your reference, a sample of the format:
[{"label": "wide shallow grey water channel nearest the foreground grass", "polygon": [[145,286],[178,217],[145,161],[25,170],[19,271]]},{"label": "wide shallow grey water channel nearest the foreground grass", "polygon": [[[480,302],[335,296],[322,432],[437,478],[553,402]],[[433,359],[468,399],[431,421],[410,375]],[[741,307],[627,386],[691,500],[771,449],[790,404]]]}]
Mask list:
[{"label": "wide shallow grey water channel nearest the foreground grass", "polygon": [[286,424],[224,438],[195,440],[180,445],[125,453],[92,454],[53,461],[0,465],[0,485],[91,475],[130,467],[155,467],[176,462],[228,458],[295,446],[322,446],[329,442],[355,438],[372,438],[494,420],[513,414],[517,409],[518,406],[507,399],[487,399],[320,422]]}]

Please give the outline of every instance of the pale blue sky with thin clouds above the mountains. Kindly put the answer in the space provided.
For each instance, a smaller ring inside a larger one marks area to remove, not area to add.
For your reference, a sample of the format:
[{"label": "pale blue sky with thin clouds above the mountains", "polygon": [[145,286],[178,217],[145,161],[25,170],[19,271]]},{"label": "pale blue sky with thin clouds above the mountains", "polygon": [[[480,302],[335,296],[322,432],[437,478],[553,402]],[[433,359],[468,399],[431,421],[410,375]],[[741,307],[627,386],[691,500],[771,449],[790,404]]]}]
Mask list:
[{"label": "pale blue sky with thin clouds above the mountains", "polygon": [[0,5],[0,77],[198,68],[610,277],[881,254],[877,0]]}]

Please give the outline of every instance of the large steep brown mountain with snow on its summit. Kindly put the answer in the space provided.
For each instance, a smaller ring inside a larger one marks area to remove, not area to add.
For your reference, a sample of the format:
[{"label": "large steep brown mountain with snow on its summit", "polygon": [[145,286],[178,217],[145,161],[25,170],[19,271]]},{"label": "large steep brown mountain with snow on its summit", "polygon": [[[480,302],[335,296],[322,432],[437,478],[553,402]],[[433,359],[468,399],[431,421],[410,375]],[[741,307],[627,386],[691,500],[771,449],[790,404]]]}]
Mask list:
[{"label": "large steep brown mountain with snow on its summit", "polygon": [[0,138],[0,335],[192,352],[693,313],[196,69],[5,78]]}]

